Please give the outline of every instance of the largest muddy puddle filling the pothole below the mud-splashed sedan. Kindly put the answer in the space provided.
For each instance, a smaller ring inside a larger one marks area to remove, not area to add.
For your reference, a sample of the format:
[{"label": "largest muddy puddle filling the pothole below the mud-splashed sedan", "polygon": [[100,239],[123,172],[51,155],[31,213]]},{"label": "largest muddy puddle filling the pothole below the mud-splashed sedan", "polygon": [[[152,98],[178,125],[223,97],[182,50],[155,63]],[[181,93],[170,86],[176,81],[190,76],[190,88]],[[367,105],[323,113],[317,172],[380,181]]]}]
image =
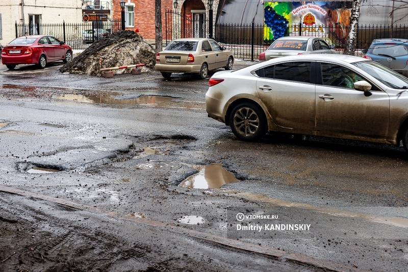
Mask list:
[{"label": "largest muddy puddle filling the pothole below the mud-splashed sedan", "polygon": [[180,187],[208,189],[219,188],[224,184],[237,182],[234,174],[225,170],[221,164],[211,164],[204,166],[197,174],[188,177]]}]

